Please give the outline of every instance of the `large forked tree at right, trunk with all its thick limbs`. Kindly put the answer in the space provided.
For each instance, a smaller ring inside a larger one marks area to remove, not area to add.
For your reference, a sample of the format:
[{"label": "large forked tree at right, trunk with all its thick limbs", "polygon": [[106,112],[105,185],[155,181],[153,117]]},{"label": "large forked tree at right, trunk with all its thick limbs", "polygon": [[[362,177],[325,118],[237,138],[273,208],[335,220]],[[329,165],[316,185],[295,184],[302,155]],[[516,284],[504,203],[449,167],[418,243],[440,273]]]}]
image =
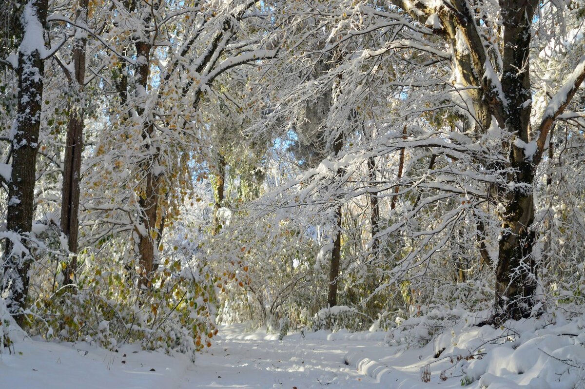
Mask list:
[{"label": "large forked tree at right, trunk with all its thick limbs", "polygon": [[[495,118],[500,129],[510,135],[506,140],[510,143],[504,144],[510,150],[508,161],[491,166],[507,172],[503,177],[506,184],[493,185],[492,188],[495,201],[501,204],[498,208],[501,208],[499,216],[502,221],[493,322],[526,317],[534,307],[536,291],[535,233],[531,230],[535,212],[532,187],[535,170],[549,130],[585,81],[585,70],[577,67],[571,83],[559,89],[562,104],[546,109],[535,139],[530,139],[529,49],[538,0],[499,1],[504,33],[501,44],[493,46],[502,50],[501,60],[495,64],[490,63],[488,45],[475,25],[479,20],[473,15],[469,2],[452,0],[448,11],[425,2],[391,2],[422,23],[429,16],[439,14],[443,28],[438,33],[450,40],[456,81],[464,87],[473,87],[461,92],[468,94],[473,101],[474,116],[470,121],[473,119],[474,129],[477,133],[486,132]],[[499,81],[495,80],[494,69],[501,71]],[[527,153],[521,146],[531,141],[535,142],[536,152]]]}]

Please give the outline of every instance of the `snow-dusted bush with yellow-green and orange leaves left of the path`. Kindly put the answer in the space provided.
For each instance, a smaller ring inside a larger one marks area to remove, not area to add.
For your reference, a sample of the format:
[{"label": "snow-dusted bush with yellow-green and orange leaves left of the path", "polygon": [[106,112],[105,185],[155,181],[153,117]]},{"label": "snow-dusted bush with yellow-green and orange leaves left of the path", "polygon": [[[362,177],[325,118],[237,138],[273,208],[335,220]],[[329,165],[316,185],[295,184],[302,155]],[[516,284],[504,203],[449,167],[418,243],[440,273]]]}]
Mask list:
[{"label": "snow-dusted bush with yellow-green and orange leaves left of the path", "polygon": [[171,256],[159,264],[153,287],[143,290],[132,272],[119,271],[119,264],[85,262],[77,284],[37,297],[29,316],[31,333],[108,349],[137,342],[191,356],[211,346],[217,333],[216,290],[204,261]]}]

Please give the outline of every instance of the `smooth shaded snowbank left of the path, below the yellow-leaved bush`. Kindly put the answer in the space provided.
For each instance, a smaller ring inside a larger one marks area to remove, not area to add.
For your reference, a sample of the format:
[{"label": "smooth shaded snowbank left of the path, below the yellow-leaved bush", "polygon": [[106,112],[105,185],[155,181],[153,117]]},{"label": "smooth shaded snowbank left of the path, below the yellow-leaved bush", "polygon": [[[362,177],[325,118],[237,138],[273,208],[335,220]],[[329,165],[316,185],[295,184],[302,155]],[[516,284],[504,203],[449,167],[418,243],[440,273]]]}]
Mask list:
[{"label": "smooth shaded snowbank left of the path, below the yellow-leaved bush", "polygon": [[57,342],[30,337],[0,298],[2,388],[173,388],[191,364],[187,353],[145,351],[139,342],[101,347],[101,342]]}]

